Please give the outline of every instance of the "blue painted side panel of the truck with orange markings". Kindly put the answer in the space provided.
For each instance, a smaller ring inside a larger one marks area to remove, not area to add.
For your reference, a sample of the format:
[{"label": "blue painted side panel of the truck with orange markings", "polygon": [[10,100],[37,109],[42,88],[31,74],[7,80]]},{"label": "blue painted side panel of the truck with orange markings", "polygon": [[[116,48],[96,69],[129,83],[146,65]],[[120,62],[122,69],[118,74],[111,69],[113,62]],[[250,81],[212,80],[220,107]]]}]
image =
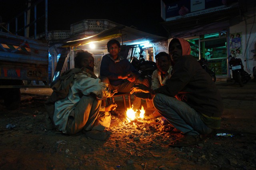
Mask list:
[{"label": "blue painted side panel of the truck with orange markings", "polygon": [[0,32],[0,79],[48,82],[48,62],[48,43]]}]

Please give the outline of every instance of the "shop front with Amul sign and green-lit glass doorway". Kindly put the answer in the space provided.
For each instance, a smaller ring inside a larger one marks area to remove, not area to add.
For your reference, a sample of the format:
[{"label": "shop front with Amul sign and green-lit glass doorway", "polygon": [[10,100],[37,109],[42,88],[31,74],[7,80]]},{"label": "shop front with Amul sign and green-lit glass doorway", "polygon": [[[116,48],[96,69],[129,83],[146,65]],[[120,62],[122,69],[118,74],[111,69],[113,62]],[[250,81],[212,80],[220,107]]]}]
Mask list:
[{"label": "shop front with Amul sign and green-lit glass doorway", "polygon": [[217,78],[230,79],[230,55],[240,58],[249,74],[256,65],[252,52],[256,49],[255,4],[250,0],[162,0],[162,25],[169,39],[188,40],[191,55],[206,59]]}]

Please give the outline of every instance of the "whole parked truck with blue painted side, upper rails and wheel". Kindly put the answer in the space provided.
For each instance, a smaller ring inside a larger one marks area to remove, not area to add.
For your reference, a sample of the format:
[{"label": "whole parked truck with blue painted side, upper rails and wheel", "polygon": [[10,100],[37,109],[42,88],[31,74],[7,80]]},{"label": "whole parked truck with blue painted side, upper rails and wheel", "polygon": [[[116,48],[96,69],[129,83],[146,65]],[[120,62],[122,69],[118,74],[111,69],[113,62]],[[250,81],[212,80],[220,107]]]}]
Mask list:
[{"label": "whole parked truck with blue painted side, upper rails and wheel", "polygon": [[[7,23],[0,21],[0,99],[7,109],[19,106],[20,88],[49,86],[48,0],[26,4],[28,8]],[[31,21],[30,14],[34,15]],[[44,28],[44,39],[37,39],[38,28]],[[32,30],[34,37],[29,38]]]}]

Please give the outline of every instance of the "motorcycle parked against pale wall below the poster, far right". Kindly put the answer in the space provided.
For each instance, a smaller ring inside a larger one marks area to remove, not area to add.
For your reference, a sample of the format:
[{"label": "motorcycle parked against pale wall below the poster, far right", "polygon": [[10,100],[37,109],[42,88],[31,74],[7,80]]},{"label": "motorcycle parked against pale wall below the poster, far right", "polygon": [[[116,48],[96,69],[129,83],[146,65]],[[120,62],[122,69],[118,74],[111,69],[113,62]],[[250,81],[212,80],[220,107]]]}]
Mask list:
[{"label": "motorcycle parked against pale wall below the poster, far right", "polygon": [[230,55],[228,57],[228,59],[230,59],[228,64],[230,66],[229,69],[232,70],[232,79],[235,80],[235,83],[238,82],[240,87],[243,87],[244,84],[246,84],[251,79],[251,74],[248,74],[246,71],[244,71],[242,60],[236,57],[236,52],[238,49],[234,51],[233,56]]}]

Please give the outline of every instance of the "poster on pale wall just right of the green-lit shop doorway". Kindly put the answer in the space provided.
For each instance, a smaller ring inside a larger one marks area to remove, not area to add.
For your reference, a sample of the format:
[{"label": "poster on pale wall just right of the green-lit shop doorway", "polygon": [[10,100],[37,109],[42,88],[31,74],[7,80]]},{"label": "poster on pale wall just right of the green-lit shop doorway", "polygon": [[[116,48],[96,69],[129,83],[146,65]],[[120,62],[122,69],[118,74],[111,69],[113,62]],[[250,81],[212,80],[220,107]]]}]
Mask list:
[{"label": "poster on pale wall just right of the green-lit shop doorway", "polygon": [[230,55],[234,56],[236,53],[236,57],[242,59],[242,33],[230,33]]}]

